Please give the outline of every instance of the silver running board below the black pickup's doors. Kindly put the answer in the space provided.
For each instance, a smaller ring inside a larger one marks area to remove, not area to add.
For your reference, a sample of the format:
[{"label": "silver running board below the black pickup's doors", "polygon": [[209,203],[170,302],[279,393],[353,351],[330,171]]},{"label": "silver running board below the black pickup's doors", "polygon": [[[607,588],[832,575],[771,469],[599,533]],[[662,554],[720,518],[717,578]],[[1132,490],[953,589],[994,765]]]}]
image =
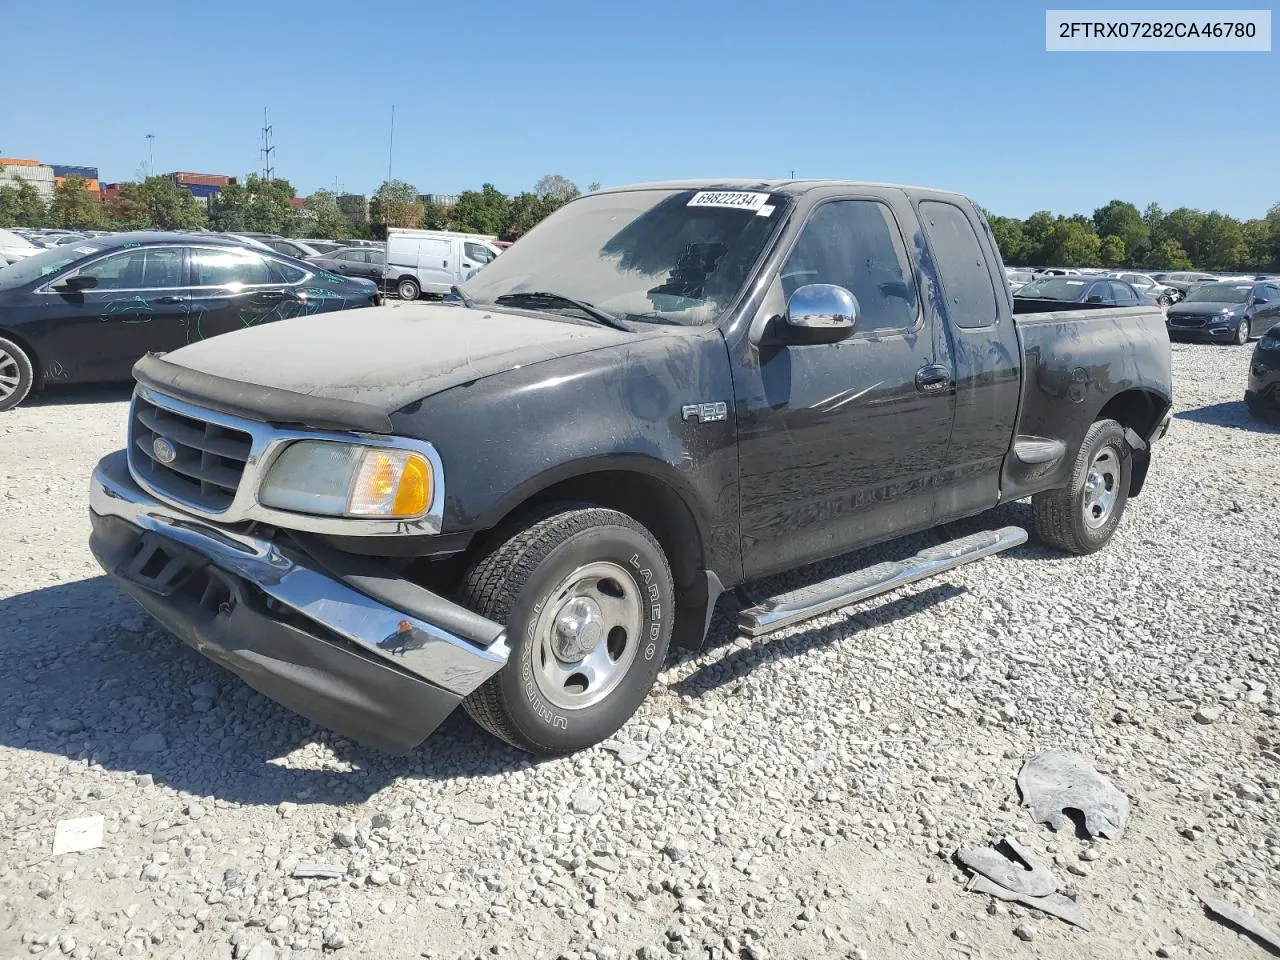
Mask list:
[{"label": "silver running board below the black pickup's doors", "polygon": [[790,627],[803,620],[849,607],[877,594],[896,590],[948,570],[955,570],[993,553],[1027,543],[1027,531],[1020,526],[984,530],[961,536],[927,550],[920,550],[905,561],[877,563],[865,570],[823,580],[820,584],[801,586],[786,594],[772,596],[737,614],[737,628],[746,636],[762,636],[774,630]]}]

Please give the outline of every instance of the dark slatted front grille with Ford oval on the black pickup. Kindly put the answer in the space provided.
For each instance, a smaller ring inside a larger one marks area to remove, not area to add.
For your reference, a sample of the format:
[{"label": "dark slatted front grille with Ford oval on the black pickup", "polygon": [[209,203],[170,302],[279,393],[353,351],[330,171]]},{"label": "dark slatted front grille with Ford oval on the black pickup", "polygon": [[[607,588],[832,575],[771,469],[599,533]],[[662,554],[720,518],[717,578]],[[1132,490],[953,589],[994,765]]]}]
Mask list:
[{"label": "dark slatted front grille with Ford oval on the black pickup", "polygon": [[[160,495],[221,513],[239,488],[252,439],[243,430],[174,413],[141,394],[133,397],[129,463],[138,479]],[[155,440],[163,436],[177,453],[172,463],[156,457]]]}]

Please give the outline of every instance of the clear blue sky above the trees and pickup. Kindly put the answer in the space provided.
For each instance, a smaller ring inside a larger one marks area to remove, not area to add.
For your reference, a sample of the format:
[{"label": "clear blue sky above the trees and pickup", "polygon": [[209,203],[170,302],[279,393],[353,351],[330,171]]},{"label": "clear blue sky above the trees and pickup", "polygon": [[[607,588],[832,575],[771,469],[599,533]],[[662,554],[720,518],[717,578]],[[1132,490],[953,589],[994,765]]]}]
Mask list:
[{"label": "clear blue sky above the trees and pickup", "polygon": [[278,175],[370,192],[394,104],[422,192],[795,170],[1018,216],[1280,202],[1280,54],[1048,54],[1048,5],[23,3],[0,156],[131,179],[154,133],[161,173],[243,174],[266,106]]}]

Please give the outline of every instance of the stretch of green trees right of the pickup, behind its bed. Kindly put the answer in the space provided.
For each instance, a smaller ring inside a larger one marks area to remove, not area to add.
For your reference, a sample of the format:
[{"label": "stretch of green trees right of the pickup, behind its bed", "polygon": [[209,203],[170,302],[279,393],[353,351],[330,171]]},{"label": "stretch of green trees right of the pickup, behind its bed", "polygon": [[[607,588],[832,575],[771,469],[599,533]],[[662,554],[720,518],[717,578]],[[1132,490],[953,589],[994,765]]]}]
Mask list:
[{"label": "stretch of green trees right of the pickup, behind its bed", "polygon": [[1025,220],[987,212],[1006,264],[1028,266],[1125,266],[1147,270],[1280,269],[1280,204],[1266,216],[1236,220],[1216,210],[1157,204],[1142,212],[1112,200],[1093,211],[1055,216],[1047,210]]}]

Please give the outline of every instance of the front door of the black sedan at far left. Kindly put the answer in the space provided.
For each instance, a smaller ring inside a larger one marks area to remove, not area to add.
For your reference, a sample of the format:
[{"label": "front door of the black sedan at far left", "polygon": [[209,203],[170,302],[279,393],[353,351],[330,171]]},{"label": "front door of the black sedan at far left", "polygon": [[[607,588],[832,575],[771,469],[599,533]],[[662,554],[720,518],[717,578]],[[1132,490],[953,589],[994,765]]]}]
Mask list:
[{"label": "front door of the black sedan at far left", "polygon": [[44,315],[70,379],[128,380],[148,351],[186,343],[189,308],[182,247],[134,247],[73,273],[96,280],[77,293],[42,288]]}]

